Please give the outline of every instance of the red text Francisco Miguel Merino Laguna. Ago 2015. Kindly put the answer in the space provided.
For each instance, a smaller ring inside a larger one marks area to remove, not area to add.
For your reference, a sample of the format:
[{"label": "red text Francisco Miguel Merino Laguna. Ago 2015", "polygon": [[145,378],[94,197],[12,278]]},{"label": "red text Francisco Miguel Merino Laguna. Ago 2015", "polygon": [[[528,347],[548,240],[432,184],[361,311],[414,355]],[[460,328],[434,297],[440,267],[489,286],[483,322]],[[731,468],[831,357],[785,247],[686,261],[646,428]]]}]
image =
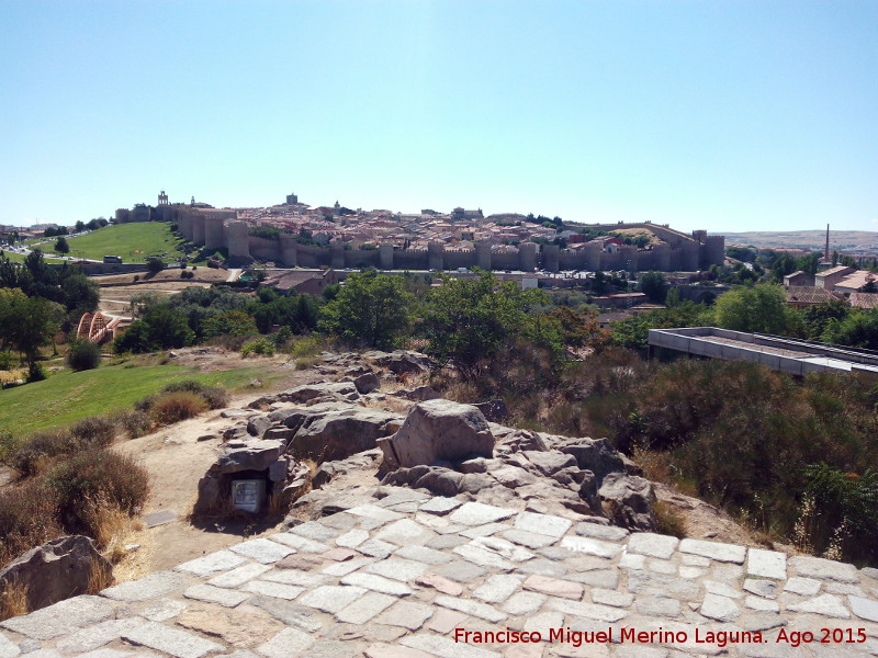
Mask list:
[{"label": "red text Francisco Miguel Merino Laguna. Ago 2015", "polygon": [[866,642],[863,628],[821,628],[820,632],[798,632],[780,628],[777,637],[764,638],[758,631],[708,631],[695,627],[695,633],[686,631],[638,631],[637,628],[612,628],[606,631],[572,631],[571,628],[549,628],[548,637],[537,631],[466,631],[454,628],[454,642],[465,644],[539,644],[541,642],[569,644],[579,647],[584,644],[710,644],[724,647],[729,644],[859,644]]}]

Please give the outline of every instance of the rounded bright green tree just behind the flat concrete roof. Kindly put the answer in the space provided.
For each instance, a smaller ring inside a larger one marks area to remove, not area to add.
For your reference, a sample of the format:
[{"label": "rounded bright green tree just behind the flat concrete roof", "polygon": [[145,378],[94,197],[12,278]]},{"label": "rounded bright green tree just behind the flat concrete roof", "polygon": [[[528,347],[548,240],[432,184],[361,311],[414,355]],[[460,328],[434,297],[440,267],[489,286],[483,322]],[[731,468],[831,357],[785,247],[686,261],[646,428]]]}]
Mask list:
[{"label": "rounded bright green tree just behind the flat concrete roof", "polygon": [[792,309],[778,285],[734,288],[720,295],[713,317],[718,327],[734,331],[786,333]]}]

